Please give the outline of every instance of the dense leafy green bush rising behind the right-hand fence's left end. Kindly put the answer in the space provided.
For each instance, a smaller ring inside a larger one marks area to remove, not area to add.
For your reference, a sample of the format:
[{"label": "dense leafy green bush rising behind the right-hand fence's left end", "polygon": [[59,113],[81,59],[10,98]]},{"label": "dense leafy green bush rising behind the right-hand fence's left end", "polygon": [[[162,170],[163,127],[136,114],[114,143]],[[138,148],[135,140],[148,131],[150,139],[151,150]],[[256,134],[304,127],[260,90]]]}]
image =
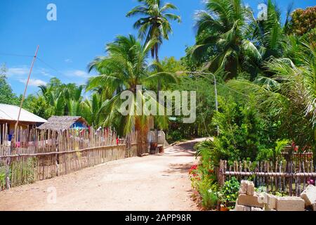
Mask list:
[{"label": "dense leafy green bush rising behind the right-hand fence's left end", "polygon": [[265,144],[265,124],[251,99],[238,105],[232,98],[220,99],[220,111],[213,123],[220,135],[213,141],[214,160],[255,160],[259,148]]}]

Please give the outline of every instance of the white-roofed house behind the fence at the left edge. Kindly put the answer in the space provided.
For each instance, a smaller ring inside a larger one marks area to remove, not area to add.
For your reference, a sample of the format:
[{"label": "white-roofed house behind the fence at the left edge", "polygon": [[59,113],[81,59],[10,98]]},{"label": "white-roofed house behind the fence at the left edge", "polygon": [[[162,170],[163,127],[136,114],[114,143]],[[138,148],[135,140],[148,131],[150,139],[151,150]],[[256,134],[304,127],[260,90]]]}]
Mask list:
[{"label": "white-roofed house behind the fence at the left edge", "polygon": [[[8,135],[8,140],[11,141],[15,129],[15,123],[18,120],[20,107],[16,105],[6,105],[0,104],[0,137],[3,139],[4,135]],[[22,129],[28,129],[30,127],[38,127],[41,124],[44,124],[47,120],[29,113],[27,110],[22,109],[19,120],[19,127]],[[5,128],[7,125],[7,128]],[[4,134],[4,129],[7,129],[7,133]],[[1,141],[0,140],[0,141]]]}]

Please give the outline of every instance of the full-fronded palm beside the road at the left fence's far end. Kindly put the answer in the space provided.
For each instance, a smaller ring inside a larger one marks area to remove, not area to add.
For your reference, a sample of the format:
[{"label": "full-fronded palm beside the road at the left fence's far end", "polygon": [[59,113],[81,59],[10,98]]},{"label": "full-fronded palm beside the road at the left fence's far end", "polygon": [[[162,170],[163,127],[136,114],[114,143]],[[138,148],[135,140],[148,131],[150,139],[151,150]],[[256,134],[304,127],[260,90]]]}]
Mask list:
[{"label": "full-fronded palm beside the road at the left fence's far end", "polygon": [[[88,81],[87,91],[102,87],[104,91],[112,91],[112,98],[101,108],[105,115],[106,127],[116,127],[124,134],[129,134],[133,129],[138,132],[138,141],[143,142],[147,139],[147,124],[149,116],[144,110],[138,111],[138,101],[136,94],[141,101],[145,102],[152,96],[145,96],[142,91],[137,89],[142,85],[143,89],[157,84],[159,79],[162,83],[175,82],[173,74],[169,72],[157,72],[150,74],[150,65],[147,58],[152,47],[157,44],[157,40],[151,39],[141,45],[132,35],[129,37],[119,36],[110,44],[107,44],[106,51],[108,56],[98,57],[89,65],[89,70],[96,70],[100,75],[92,77]],[[125,101],[121,99],[123,91],[130,91],[133,94],[127,115],[122,115],[121,105]],[[157,100],[154,99],[154,103]],[[143,153],[143,145],[139,148],[140,154]]]}]

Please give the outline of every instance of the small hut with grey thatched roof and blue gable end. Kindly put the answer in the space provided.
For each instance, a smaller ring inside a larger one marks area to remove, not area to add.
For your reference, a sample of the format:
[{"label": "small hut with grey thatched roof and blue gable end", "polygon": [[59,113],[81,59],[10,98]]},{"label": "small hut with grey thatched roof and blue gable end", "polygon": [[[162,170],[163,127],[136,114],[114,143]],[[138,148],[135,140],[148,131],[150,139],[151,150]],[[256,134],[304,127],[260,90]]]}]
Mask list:
[{"label": "small hut with grey thatched roof and blue gable end", "polygon": [[39,129],[49,129],[53,131],[64,131],[66,129],[84,129],[88,127],[88,123],[83,117],[51,117],[48,122],[39,126]]}]

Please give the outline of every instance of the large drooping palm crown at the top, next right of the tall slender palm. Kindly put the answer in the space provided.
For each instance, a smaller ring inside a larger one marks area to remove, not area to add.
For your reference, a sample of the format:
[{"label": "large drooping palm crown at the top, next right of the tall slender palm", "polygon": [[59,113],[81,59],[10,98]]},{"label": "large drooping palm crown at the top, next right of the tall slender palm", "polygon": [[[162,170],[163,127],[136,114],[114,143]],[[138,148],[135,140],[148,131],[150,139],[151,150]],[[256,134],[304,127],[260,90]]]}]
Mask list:
[{"label": "large drooping palm crown at the top, next right of the tall slender palm", "polygon": [[214,52],[205,69],[216,72],[224,68],[229,72],[226,79],[230,79],[242,71],[245,60],[260,62],[258,49],[244,37],[254,16],[241,0],[208,0],[206,11],[199,11],[196,18],[197,44],[192,59],[201,60],[209,49]]}]

